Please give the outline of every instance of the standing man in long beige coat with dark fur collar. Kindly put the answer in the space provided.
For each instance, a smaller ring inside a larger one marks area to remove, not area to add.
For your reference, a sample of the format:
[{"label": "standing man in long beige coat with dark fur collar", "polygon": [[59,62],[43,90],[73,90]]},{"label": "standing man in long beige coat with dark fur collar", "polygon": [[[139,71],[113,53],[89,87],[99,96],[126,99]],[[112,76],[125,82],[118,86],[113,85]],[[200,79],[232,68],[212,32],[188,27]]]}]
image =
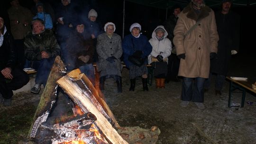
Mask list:
[{"label": "standing man in long beige coat with dark fur collar", "polygon": [[174,45],[180,59],[178,75],[183,76],[180,106],[187,107],[192,101],[198,108],[204,109],[204,81],[209,76],[210,59],[218,51],[219,36],[214,11],[203,0],[192,0],[178,17]]}]

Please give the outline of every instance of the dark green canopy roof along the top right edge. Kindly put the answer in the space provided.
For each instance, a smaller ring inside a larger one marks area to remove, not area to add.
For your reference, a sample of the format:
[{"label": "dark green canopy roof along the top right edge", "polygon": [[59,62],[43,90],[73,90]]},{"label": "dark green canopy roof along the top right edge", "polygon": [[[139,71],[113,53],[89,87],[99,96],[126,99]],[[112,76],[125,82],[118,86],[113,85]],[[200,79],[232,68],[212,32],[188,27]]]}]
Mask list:
[{"label": "dark green canopy roof along the top right edge", "polygon": [[[126,0],[149,7],[155,7],[160,9],[171,9],[174,5],[180,5],[185,7],[190,0]],[[204,0],[207,6],[219,7],[221,0]],[[233,0],[233,6],[252,6],[256,5],[256,0]]]}]

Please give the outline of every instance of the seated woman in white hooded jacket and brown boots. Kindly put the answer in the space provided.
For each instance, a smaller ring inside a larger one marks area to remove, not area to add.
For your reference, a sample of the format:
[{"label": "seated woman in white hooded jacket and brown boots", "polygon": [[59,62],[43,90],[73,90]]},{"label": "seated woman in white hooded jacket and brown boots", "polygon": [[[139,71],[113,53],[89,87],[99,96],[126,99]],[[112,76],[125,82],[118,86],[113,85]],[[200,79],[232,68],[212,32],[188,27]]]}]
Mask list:
[{"label": "seated woman in white hooded jacket and brown boots", "polygon": [[166,37],[167,35],[164,26],[157,26],[149,40],[153,48],[151,54],[148,55],[148,63],[155,68],[155,88],[165,88],[168,56],[172,51],[172,43]]}]

